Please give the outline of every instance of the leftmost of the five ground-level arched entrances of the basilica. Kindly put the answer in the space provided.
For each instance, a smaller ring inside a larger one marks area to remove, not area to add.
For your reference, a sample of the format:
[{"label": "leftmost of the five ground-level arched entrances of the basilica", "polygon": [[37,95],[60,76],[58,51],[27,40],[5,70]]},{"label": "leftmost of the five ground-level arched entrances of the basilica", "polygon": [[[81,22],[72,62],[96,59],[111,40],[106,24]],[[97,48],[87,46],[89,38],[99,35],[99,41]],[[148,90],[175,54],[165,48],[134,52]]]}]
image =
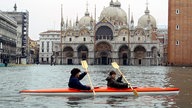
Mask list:
[{"label": "leftmost of the five ground-level arched entrances of the basilica", "polygon": [[65,63],[66,64],[73,64],[73,55],[74,55],[74,51],[71,47],[65,47],[63,49],[63,52],[64,52],[64,58],[61,58],[62,60],[66,60]]}]

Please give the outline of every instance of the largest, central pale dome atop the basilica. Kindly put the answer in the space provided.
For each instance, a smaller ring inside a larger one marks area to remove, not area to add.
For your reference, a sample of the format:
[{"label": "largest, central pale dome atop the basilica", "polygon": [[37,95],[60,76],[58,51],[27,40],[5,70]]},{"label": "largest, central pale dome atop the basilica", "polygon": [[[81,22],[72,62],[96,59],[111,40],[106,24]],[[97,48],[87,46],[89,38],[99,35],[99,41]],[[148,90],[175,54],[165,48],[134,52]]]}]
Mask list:
[{"label": "largest, central pale dome atop the basilica", "polygon": [[100,20],[104,17],[110,21],[127,23],[127,14],[123,9],[121,9],[121,3],[118,0],[116,2],[111,1],[110,6],[102,10]]}]

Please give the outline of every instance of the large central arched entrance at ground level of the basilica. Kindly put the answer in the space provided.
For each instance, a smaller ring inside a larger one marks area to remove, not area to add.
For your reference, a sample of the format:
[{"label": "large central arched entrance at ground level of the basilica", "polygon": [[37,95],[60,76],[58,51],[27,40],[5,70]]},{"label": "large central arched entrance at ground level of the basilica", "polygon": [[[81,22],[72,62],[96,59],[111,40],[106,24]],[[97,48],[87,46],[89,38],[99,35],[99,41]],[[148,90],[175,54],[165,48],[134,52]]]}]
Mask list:
[{"label": "large central arched entrance at ground level of the basilica", "polygon": [[107,42],[100,42],[96,45],[96,64],[108,65],[111,63],[111,45]]}]

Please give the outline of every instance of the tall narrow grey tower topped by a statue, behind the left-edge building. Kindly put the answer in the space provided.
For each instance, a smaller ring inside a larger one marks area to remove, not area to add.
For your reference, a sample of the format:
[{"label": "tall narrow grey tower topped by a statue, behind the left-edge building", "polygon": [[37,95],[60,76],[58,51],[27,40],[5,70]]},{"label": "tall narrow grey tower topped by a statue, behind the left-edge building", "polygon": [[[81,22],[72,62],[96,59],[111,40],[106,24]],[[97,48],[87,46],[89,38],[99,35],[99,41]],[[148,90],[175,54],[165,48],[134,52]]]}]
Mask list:
[{"label": "tall narrow grey tower topped by a statue, behind the left-edge building", "polygon": [[16,63],[26,64],[29,60],[29,48],[28,48],[28,29],[29,29],[29,12],[17,12],[17,6],[15,4],[14,11],[4,12],[4,14],[13,18],[17,22],[17,50],[16,50]]}]

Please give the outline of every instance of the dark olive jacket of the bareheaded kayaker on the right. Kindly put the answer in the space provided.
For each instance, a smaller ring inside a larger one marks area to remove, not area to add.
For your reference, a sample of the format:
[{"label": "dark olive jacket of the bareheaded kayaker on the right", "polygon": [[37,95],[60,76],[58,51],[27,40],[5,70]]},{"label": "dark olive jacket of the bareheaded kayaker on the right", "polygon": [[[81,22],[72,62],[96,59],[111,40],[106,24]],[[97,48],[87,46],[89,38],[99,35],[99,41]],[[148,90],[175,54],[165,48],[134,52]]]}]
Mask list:
[{"label": "dark olive jacket of the bareheaded kayaker on the right", "polygon": [[119,78],[117,78],[117,80],[111,78],[111,76],[108,76],[106,78],[107,80],[107,86],[108,87],[113,87],[113,88],[128,88],[128,84],[127,83],[123,83],[122,80],[122,76],[120,76]]}]

